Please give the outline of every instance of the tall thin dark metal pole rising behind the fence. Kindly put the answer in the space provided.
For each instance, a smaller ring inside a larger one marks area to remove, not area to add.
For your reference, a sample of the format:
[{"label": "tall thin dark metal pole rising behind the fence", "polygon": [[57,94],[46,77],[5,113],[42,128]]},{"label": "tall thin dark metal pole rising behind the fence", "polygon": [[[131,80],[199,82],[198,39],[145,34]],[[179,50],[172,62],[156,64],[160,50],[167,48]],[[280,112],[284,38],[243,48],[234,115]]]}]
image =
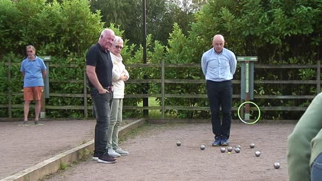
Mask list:
[{"label": "tall thin dark metal pole rising behind the fence", "polygon": [[[146,42],[146,38],[147,38],[147,5],[145,0],[142,0],[142,17],[143,17],[143,37],[142,37],[142,47],[143,47],[143,64],[147,63],[147,42]],[[144,80],[147,80],[147,75],[144,75]],[[143,84],[143,94],[147,94],[148,93],[148,89],[149,89],[149,85],[147,83]],[[144,97],[143,98],[143,107],[145,106],[149,106],[149,99],[148,97]],[[143,115],[144,117],[148,117],[149,116],[149,110],[143,110]]]}]

